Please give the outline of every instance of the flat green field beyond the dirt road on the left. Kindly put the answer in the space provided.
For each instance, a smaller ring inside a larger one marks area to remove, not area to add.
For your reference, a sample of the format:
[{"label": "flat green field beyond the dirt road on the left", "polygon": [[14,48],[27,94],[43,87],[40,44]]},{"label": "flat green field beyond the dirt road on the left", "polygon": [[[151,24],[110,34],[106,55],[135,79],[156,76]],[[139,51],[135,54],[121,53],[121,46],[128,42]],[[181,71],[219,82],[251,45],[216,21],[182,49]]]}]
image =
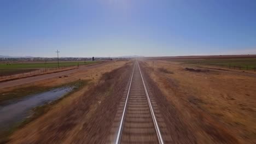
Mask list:
[{"label": "flat green field beyond the dirt road on the left", "polygon": [[[60,62],[60,67],[71,67],[79,65],[87,65],[98,63],[96,61],[86,62]],[[21,73],[27,73],[40,68],[57,68],[57,62],[37,62],[37,63],[0,63],[0,76],[9,76]]]}]

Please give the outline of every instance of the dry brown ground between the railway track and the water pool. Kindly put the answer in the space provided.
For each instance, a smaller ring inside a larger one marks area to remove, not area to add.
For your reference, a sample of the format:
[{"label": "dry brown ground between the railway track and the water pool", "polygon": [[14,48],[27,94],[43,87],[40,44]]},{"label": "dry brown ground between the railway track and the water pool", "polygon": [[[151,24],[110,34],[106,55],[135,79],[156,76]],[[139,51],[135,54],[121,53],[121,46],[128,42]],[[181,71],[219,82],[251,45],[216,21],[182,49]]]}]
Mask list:
[{"label": "dry brown ground between the railway track and the water pool", "polygon": [[130,61],[116,61],[68,77],[30,83],[55,86],[78,79],[91,80],[89,87],[61,100],[50,111],[16,131],[9,143],[104,143],[107,138],[102,137],[108,135],[111,118],[121,99],[118,96],[127,85],[131,68]]}]

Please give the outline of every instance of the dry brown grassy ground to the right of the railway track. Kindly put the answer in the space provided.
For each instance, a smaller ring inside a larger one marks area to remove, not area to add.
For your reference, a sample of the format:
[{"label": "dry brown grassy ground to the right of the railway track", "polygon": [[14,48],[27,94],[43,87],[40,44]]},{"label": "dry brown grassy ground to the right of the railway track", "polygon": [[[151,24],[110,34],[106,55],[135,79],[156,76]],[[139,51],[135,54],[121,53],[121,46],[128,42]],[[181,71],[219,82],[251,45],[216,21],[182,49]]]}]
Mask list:
[{"label": "dry brown grassy ground to the right of the railway track", "polygon": [[158,98],[159,107],[166,111],[174,141],[256,143],[255,75],[186,70],[188,65],[170,61],[140,63],[160,89],[156,97],[163,95]]}]

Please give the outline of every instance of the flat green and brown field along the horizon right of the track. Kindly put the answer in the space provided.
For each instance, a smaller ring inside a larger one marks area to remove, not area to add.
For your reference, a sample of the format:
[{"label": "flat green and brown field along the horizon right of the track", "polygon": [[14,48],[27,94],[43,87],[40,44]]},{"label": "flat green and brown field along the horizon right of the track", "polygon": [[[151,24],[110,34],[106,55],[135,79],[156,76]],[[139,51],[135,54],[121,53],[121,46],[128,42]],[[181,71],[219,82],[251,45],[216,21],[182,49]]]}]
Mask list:
[{"label": "flat green and brown field along the horizon right of the track", "polygon": [[217,65],[220,67],[254,70],[256,67],[256,58],[231,58],[231,59],[184,59],[178,60],[184,64],[205,64]]}]

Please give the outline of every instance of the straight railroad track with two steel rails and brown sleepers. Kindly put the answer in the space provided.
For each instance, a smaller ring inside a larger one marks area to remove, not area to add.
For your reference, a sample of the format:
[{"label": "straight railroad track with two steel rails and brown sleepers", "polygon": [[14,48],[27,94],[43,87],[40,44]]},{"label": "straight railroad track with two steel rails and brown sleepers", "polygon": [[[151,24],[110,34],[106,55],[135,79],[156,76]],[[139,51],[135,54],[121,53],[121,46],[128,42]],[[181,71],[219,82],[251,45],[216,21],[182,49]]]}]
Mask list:
[{"label": "straight railroad track with two steel rails and brown sleepers", "polygon": [[137,61],[126,93],[115,143],[164,143]]}]

